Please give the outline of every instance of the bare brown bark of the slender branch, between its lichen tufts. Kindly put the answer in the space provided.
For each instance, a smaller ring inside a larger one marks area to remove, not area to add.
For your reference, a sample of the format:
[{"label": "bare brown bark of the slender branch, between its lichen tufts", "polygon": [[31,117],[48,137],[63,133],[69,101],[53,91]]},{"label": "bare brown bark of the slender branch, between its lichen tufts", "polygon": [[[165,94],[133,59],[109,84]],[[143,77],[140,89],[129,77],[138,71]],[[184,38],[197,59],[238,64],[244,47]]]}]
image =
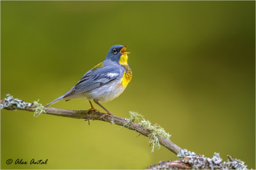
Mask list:
[{"label": "bare brown bark of the slender branch, between its lichen tufts", "polygon": [[[1,100],[1,103],[3,103],[4,100]],[[30,106],[31,105],[31,106]],[[19,108],[19,110],[24,111],[34,111],[34,109],[37,106],[32,103],[28,103],[28,106],[25,108]],[[10,108],[4,108],[6,110],[12,110]],[[139,132],[143,136],[147,136],[150,134],[150,130],[142,127],[141,125],[136,124],[135,122],[130,121],[129,124],[127,124],[127,119],[116,117],[115,115],[106,115],[106,113],[100,113],[93,110],[63,110],[59,108],[51,108],[47,107],[45,108],[46,115],[54,115],[54,116],[60,116],[60,117],[69,117],[69,118],[79,118],[84,120],[100,120],[103,122],[115,122],[116,125],[120,125],[122,127],[126,127],[127,129],[131,129],[132,131]],[[104,116],[106,115],[106,116]],[[157,136],[159,143],[163,145],[165,148],[168,148],[171,152],[175,153],[177,155],[182,148],[177,146],[172,141],[163,138],[162,136]]]}]

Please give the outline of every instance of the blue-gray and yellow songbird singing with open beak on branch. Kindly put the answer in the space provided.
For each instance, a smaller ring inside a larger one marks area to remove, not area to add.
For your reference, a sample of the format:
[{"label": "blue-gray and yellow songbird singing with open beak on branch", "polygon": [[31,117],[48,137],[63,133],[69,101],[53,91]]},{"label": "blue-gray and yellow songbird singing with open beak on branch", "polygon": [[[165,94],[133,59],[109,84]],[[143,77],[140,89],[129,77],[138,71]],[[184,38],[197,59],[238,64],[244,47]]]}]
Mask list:
[{"label": "blue-gray and yellow songbird singing with open beak on branch", "polygon": [[94,101],[107,112],[107,115],[113,115],[100,103],[112,101],[120,96],[132,79],[132,71],[127,63],[129,54],[126,52],[127,46],[128,44],[111,46],[103,62],[92,67],[67,93],[45,107],[61,100],[86,98],[91,105],[87,113],[92,110],[98,111],[92,104]]}]

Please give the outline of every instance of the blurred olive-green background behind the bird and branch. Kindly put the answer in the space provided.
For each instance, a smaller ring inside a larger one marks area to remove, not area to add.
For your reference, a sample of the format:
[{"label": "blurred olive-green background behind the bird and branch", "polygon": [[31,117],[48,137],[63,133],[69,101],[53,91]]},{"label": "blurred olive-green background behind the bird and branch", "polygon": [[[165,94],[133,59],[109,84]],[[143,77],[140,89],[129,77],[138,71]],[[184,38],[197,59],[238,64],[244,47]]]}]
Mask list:
[{"label": "blurred olive-green background behind the bird and branch", "polygon": [[[129,43],[132,81],[104,103],[138,111],[171,140],[255,169],[255,1],[1,1],[1,99],[47,104]],[[88,101],[56,108],[87,110]],[[101,110],[99,107],[97,109]],[[104,122],[1,110],[2,169],[143,169],[177,159]],[[6,165],[7,159],[49,159]]]}]

